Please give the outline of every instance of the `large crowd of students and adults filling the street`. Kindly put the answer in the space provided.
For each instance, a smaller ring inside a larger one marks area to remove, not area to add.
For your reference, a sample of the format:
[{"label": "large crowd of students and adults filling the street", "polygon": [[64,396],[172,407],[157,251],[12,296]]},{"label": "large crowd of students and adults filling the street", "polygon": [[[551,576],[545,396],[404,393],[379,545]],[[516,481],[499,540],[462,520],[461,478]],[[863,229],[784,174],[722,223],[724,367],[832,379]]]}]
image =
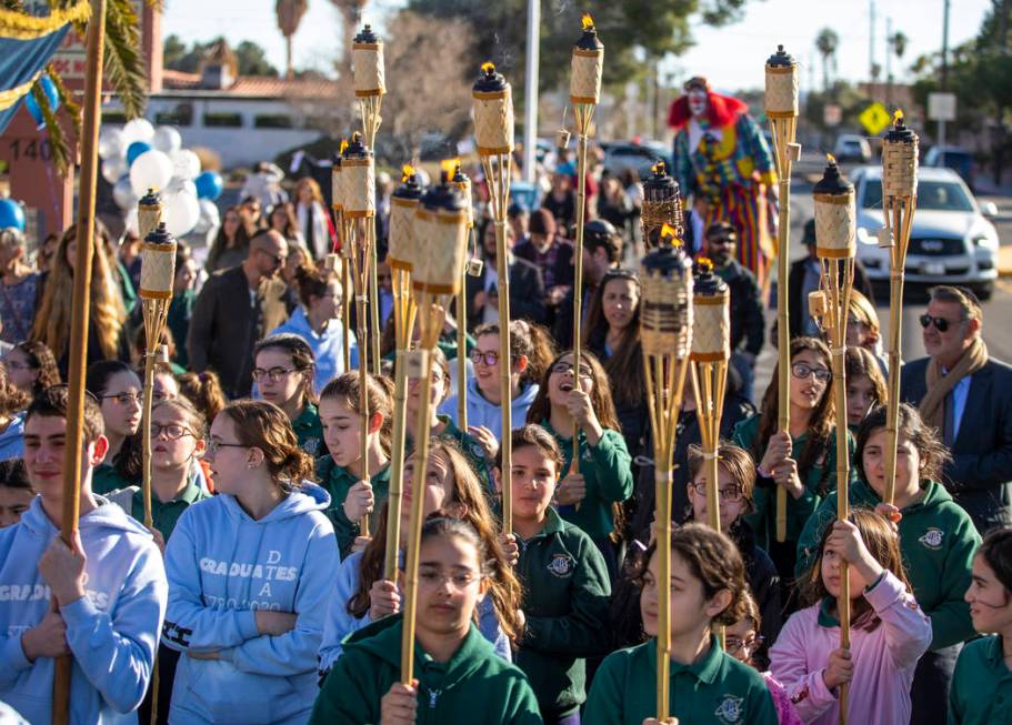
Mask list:
[{"label": "large crowd of students and adults filling the street", "polygon": [[[831,352],[806,309],[808,260],[795,264],[791,423],[780,431],[779,375],[757,390],[765,381],[755,360],[771,338],[763,288],[740,260],[739,230],[710,224],[692,250],[731,298],[722,533],[705,525],[689,386],[677,526],[658,541],[641,286],[628,266],[637,193],[593,180],[577,300],[569,171],[560,167],[540,208],[510,209],[510,360],[500,358],[494,230],[479,205],[485,263],[468,279],[465,348],[448,315],[432,379],[407,392],[409,421],[423,395],[432,404],[425,471],[409,426],[394,528],[403,551],[409,502],[422,496],[411,684],[400,676],[404,582],[384,577],[397,404],[389,270],[380,264],[371,301],[384,328],[382,372],[362,391],[357,350],[368,341],[342,324],[344,290],[322,263],[334,232],[317,183],[300,180],[294,203],[264,210],[249,197],[226,210],[203,269],[180,244],[150,420],[138,240],[118,243],[97,225],[80,527],[69,546],[58,533],[77,233],[36,256],[20,232],[0,232],[0,701],[49,722],[56,662],[69,655],[73,723],[134,713],[148,722],[152,706],[169,723],[654,723],[667,586],[672,714],[682,722],[834,723],[845,686],[855,723],[1003,722],[1012,367],[989,358],[976,298],[932,290],[920,319],[929,356],[901,371],[895,497],[885,503],[886,361],[870,290],[851,304],[841,431]],[[814,235],[812,225],[810,248]],[[502,405],[512,431],[501,429]],[[850,456],[846,521],[835,515],[839,436]],[[512,531],[502,532],[505,486]],[[658,581],[663,546],[670,582]]]}]

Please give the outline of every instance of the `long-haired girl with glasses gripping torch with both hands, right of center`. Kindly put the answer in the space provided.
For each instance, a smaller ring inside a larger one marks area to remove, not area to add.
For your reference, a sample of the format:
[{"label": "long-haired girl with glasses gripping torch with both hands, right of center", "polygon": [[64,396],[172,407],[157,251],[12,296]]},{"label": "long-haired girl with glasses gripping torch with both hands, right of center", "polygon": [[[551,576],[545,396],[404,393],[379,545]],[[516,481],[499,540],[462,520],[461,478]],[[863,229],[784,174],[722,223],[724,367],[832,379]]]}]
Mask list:
[{"label": "long-haired girl with glasses gripping torch with both hands, right of center", "polygon": [[[781,583],[792,581],[798,537],[819,502],[836,487],[836,427],[830,351],[815,338],[791,340],[791,430],[778,431],[779,373],[762,399],[761,412],[734,427],[733,442],[752,454],[755,512],[748,522],[770,553]],[[851,439],[848,434],[851,450]],[[786,537],[778,542],[776,489],[788,493]],[[786,594],[786,592],[784,592]]]}]

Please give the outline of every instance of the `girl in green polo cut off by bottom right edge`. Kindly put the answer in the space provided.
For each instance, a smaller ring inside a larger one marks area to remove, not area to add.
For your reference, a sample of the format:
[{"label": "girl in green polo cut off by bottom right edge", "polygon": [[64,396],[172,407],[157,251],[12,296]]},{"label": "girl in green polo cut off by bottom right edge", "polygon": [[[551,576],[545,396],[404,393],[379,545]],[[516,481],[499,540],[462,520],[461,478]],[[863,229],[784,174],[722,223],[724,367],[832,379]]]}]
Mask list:
[{"label": "girl in green polo cut off by bottom right edge", "polygon": [[984,537],[966,590],[973,628],[949,691],[949,725],[1008,723],[1012,706],[1012,528]]}]

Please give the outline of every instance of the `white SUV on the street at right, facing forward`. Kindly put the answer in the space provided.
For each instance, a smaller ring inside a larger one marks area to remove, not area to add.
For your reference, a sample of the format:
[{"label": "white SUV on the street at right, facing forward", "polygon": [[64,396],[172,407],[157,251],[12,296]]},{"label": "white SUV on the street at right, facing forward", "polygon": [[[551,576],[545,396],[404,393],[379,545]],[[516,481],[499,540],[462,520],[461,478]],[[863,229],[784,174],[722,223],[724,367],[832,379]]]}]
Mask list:
[{"label": "white SUV on the street at right, facing forward", "polygon": [[[882,168],[862,167],[851,177],[856,188],[858,259],[872,282],[889,282],[889,250],[879,246],[882,213]],[[918,171],[918,205],[906,254],[906,281],[961,284],[979,298],[991,296],[998,279],[998,231],[986,217],[994,204],[978,204],[951,169]]]}]

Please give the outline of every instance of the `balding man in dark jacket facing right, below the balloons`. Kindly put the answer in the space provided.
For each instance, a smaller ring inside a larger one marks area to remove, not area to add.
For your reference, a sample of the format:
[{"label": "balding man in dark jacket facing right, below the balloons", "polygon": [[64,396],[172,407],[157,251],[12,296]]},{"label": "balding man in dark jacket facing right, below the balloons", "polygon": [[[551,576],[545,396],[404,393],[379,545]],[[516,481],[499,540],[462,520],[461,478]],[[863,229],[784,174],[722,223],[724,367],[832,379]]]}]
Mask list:
[{"label": "balding man in dark jacket facing right, below the balloons", "polygon": [[190,369],[213,369],[229,397],[250,394],[253,346],[288,316],[283,304],[271,302],[287,258],[284,238],[261,231],[250,240],[246,261],[216,272],[197,296],[187,339]]}]

